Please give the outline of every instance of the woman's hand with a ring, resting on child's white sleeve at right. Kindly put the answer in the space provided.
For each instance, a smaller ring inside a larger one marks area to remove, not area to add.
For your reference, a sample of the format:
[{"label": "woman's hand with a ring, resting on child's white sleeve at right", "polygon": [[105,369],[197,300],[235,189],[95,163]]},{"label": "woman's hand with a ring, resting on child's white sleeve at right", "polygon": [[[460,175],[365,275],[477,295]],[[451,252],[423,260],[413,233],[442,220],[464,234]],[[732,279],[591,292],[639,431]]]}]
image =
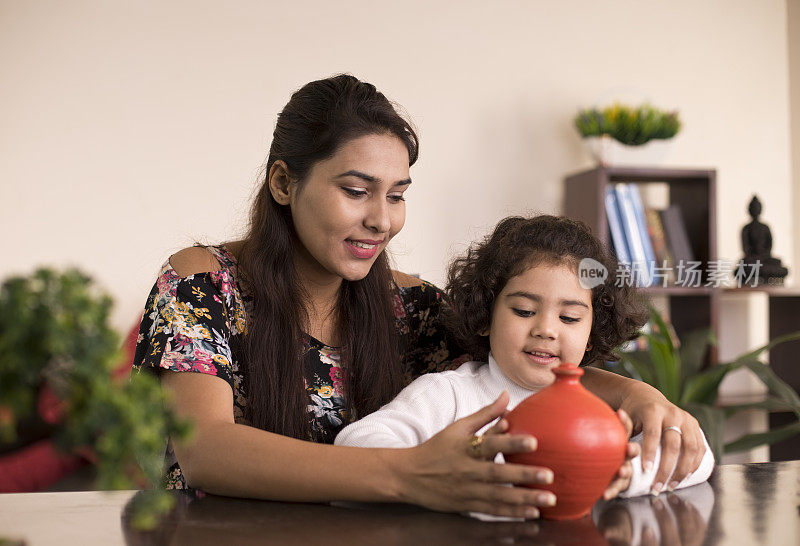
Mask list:
[{"label": "woman's hand with a ring, resting on child's white sleeve at right", "polygon": [[657,494],[665,486],[674,489],[700,466],[705,453],[703,431],[697,419],[669,402],[658,390],[646,383],[640,385],[625,397],[620,407],[633,418],[634,430],[644,431],[642,469],[645,472],[652,468],[661,443],[661,462],[652,489]]}]

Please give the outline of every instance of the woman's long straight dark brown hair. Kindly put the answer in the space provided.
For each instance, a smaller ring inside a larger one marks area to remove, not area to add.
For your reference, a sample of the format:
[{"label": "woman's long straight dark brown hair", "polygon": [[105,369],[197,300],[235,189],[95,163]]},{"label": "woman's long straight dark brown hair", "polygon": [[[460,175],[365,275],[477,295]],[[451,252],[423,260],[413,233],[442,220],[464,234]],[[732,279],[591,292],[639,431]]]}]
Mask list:
[{"label": "woman's long straight dark brown hair", "polygon": [[[239,256],[253,297],[244,343],[247,418],[258,428],[310,438],[302,345],[308,302],[292,259],[299,242],[291,211],[273,199],[270,169],[283,161],[303,184],[316,162],[369,134],[397,136],[408,149],[409,166],[416,162],[419,144],[411,125],[374,85],[353,76],[304,85],[278,115]],[[365,278],[342,281],[336,316],[351,416],[375,411],[402,387],[393,286],[385,252]]]}]

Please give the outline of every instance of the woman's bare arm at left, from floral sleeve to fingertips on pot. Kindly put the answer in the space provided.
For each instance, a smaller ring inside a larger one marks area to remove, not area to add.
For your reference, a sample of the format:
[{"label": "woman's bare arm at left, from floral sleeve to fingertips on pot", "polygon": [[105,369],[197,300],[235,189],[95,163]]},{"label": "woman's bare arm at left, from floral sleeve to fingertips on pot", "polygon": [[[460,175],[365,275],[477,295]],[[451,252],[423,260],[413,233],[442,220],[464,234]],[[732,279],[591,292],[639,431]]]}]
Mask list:
[{"label": "woman's bare arm at left, from floral sleeve to fingertips on pot", "polygon": [[[501,465],[468,454],[472,435],[505,411],[508,395],[410,449],[315,444],[234,423],[233,395],[223,380],[163,372],[162,384],[192,438],[174,445],[187,483],[220,495],[283,501],[409,502],[441,511],[535,517],[546,492],[536,468]],[[486,448],[484,443],[484,448]],[[524,452],[522,437],[494,438],[492,449]]]}]

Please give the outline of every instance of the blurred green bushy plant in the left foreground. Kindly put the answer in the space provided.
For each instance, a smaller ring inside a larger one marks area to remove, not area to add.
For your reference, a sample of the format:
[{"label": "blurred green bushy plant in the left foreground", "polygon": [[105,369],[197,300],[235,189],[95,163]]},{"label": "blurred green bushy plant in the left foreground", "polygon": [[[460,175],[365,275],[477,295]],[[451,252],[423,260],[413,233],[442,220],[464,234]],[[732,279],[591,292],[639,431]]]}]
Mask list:
[{"label": "blurred green bushy plant in the left foreground", "polygon": [[[89,458],[98,489],[151,488],[135,522],[153,525],[172,497],[156,487],[167,437],[190,427],[167,409],[158,381],[147,374],[114,379],[120,340],[108,326],[111,298],[71,269],[39,269],[0,287],[0,447],[45,417],[65,453]],[[42,416],[41,391],[55,406]],[[55,415],[54,415],[55,414]]]}]

